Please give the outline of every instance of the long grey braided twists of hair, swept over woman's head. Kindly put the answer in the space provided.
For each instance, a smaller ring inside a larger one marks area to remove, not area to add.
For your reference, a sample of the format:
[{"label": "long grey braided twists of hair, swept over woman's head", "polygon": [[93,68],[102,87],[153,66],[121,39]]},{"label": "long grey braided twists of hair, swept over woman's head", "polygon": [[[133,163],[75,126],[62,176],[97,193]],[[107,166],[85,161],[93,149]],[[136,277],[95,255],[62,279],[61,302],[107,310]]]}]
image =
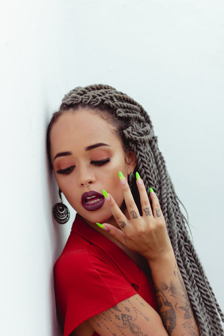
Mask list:
[{"label": "long grey braided twists of hair, swept over woman's head", "polygon": [[48,126],[49,161],[49,135],[52,125],[61,114],[86,107],[99,113],[116,128],[123,141],[124,150],[129,149],[135,153],[137,170],[148,196],[149,187],[152,187],[158,196],[200,335],[224,335],[221,325],[221,320],[224,322],[224,315],[190,240],[186,219],[179,208],[178,197],[167,172],[165,160],[159,151],[152,123],[140,104],[108,85],[76,87],[64,96],[59,111],[53,114]]}]

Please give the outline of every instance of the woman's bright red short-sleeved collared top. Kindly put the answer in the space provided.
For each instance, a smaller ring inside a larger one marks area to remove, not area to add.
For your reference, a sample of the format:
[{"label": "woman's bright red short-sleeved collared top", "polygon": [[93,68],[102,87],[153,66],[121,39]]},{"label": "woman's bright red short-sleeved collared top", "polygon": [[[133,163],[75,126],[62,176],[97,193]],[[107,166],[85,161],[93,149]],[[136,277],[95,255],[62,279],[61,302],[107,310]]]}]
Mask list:
[{"label": "woman's bright red short-sleeved collared top", "polygon": [[78,214],[55,263],[54,286],[63,336],[136,293],[157,311],[152,280],[120,247]]}]

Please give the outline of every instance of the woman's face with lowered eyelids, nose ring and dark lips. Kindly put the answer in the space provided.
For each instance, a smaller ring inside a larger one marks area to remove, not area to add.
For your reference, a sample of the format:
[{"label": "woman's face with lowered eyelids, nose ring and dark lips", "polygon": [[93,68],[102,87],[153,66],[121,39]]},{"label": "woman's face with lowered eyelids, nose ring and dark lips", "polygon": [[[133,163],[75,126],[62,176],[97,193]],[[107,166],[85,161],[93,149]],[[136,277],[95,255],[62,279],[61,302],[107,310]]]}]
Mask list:
[{"label": "woman's face with lowered eyelids, nose ring and dark lips", "polygon": [[107,121],[90,109],[65,113],[52,126],[50,145],[57,184],[84,219],[96,223],[111,217],[102,189],[121,208],[124,197],[118,172],[127,178],[136,159],[133,152],[124,153],[121,140]]}]

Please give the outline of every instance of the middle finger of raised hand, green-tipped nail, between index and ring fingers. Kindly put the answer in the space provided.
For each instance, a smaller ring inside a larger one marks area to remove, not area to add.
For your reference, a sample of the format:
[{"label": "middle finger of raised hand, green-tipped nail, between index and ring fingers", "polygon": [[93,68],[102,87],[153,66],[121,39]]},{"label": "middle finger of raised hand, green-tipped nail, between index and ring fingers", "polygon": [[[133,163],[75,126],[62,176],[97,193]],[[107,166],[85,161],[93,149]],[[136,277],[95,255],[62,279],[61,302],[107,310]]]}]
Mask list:
[{"label": "middle finger of raised hand, green-tipped nail, between index and ring fingers", "polygon": [[132,196],[128,182],[121,171],[119,171],[119,178],[120,178],[121,188],[122,188],[124,199],[125,199],[125,204],[126,204],[128,213],[130,215],[130,220],[132,221],[140,217],[138,207],[135,204],[135,201]]}]

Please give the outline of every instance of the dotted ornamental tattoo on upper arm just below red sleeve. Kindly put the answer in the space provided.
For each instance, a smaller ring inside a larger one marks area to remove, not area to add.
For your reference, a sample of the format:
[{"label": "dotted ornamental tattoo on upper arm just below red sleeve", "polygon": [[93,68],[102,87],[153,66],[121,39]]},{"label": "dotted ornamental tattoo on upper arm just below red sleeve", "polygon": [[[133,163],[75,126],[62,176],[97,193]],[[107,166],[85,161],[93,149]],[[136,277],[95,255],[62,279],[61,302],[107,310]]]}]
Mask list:
[{"label": "dotted ornamental tattoo on upper arm just below red sleeve", "polygon": [[[137,301],[141,303],[138,299]],[[142,305],[144,304],[142,303]],[[125,336],[125,330],[129,330],[129,332],[131,331],[135,336],[147,336],[141,331],[141,327],[136,323],[139,314],[141,314],[146,321],[149,321],[149,319],[144,316],[144,314],[139,311],[129,299],[126,299],[105,312],[96,315],[92,318],[92,321],[94,321],[99,328],[101,328],[101,326],[106,328],[113,336],[117,336],[118,334]],[[115,330],[112,332],[108,328],[108,322],[112,322],[115,325],[117,333],[114,333]]]}]

